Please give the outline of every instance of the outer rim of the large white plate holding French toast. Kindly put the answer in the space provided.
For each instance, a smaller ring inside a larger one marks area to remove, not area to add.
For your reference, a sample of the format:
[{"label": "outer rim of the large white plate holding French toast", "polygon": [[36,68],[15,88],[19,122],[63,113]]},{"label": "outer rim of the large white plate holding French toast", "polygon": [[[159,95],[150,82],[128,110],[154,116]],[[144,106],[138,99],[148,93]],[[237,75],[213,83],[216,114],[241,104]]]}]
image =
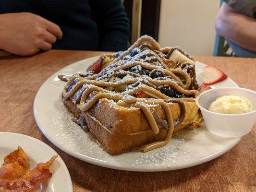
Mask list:
[{"label": "outer rim of the large white plate holding French toast", "polygon": [[[222,150],[221,152],[218,152],[216,154],[213,154],[211,156],[207,156],[205,158],[202,158],[200,160],[197,161],[197,163],[188,163],[186,166],[181,166],[181,168],[176,167],[176,168],[158,168],[158,169],[146,169],[146,168],[124,168],[124,167],[117,167],[117,166],[114,166],[114,165],[111,165],[110,163],[108,162],[105,162],[105,161],[102,161],[100,159],[95,159],[95,158],[92,158],[92,157],[89,157],[89,156],[82,156],[81,154],[79,153],[76,153],[76,152],[73,152],[73,151],[70,151],[70,150],[67,150],[64,146],[62,146],[61,144],[59,144],[59,142],[57,142],[53,137],[51,137],[50,135],[47,134],[47,132],[44,130],[44,128],[40,125],[39,123],[39,120],[37,119],[37,114],[36,114],[36,100],[37,100],[37,95],[38,95],[38,92],[40,91],[40,89],[46,84],[46,82],[53,78],[53,77],[56,77],[56,75],[60,72],[62,72],[65,68],[70,68],[72,67],[72,65],[76,65],[77,63],[79,62],[85,62],[86,60],[96,60],[98,59],[99,56],[96,56],[96,57],[91,57],[91,58],[86,58],[84,60],[79,60],[79,61],[76,61],[74,63],[71,63],[65,67],[63,67],[62,69],[60,69],[59,71],[55,72],[54,74],[52,74],[41,86],[40,88],[38,89],[37,91],[37,94],[34,98],[34,104],[33,104],[33,112],[34,112],[34,117],[35,117],[35,120],[36,120],[36,123],[37,123],[37,126],[38,128],[40,129],[40,131],[47,137],[47,139],[49,139],[49,141],[51,143],[53,143],[55,146],[57,146],[58,148],[60,148],[62,151],[64,151],[65,153],[71,155],[71,156],[74,156],[82,161],[85,161],[85,162],[88,162],[88,163],[91,163],[91,164],[94,164],[94,165],[98,165],[98,166],[101,166],[101,167],[106,167],[106,168],[113,168],[113,169],[119,169],[119,170],[125,170],[125,171],[135,171],[135,172],[158,172],[158,171],[170,171],[170,170],[177,170],[177,169],[183,169],[183,168],[189,168],[189,167],[194,167],[196,165],[200,165],[200,164],[203,164],[203,163],[206,163],[210,160],[213,160],[225,153],[227,153],[230,149],[232,149],[241,139],[241,138],[234,138],[235,140],[233,141],[232,145],[230,145],[229,147],[225,148],[225,150]],[[202,63],[202,62],[199,62],[199,61],[196,61],[197,63],[201,64],[201,65],[204,65],[204,66],[207,66],[206,64]],[[230,79],[229,77],[227,78],[229,81],[232,82],[232,84],[234,84],[234,86],[236,87],[239,87],[232,79]]]}]

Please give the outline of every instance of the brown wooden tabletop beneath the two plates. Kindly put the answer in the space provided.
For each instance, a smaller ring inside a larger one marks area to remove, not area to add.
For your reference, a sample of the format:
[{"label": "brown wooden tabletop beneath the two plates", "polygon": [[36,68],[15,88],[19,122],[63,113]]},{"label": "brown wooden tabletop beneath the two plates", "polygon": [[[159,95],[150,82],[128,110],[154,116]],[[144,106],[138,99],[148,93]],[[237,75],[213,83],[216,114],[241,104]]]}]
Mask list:
[{"label": "brown wooden tabletop beneath the two plates", "polygon": [[[39,131],[33,101],[49,76],[102,52],[51,50],[32,57],[0,56],[0,131],[18,132],[49,144],[69,169],[74,192],[253,192],[256,191],[256,127],[226,154],[192,168],[130,172],[92,165],[55,147]],[[256,59],[195,56],[216,65],[239,86],[256,90]]]}]

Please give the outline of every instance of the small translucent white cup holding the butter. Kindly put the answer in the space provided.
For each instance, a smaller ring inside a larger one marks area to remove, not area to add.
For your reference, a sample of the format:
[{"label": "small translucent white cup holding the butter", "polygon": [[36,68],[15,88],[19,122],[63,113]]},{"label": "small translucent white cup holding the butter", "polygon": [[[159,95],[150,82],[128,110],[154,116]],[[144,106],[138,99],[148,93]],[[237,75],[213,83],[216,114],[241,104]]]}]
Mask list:
[{"label": "small translucent white cup holding the butter", "polygon": [[[209,111],[210,104],[220,96],[244,96],[252,102],[253,111],[241,114],[221,114]],[[207,90],[196,98],[207,130],[222,137],[242,137],[253,128],[256,120],[256,92],[240,87],[221,87]]]}]

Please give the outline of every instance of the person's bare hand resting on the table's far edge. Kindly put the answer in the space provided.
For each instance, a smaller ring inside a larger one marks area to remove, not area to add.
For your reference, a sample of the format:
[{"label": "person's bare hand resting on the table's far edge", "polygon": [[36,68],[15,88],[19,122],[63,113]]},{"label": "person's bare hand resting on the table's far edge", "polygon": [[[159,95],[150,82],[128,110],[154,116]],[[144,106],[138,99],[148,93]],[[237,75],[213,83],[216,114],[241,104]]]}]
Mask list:
[{"label": "person's bare hand resting on the table's far edge", "polygon": [[49,50],[62,38],[61,28],[38,15],[22,13],[0,14],[0,49],[15,55],[33,55]]}]

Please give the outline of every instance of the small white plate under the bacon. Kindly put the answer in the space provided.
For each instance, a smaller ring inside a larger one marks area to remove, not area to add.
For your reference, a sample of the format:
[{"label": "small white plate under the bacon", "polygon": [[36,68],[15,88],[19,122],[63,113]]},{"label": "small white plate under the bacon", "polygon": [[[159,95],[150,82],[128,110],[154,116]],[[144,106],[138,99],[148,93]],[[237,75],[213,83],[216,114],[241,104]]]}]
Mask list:
[{"label": "small white plate under the bacon", "polygon": [[[46,162],[57,154],[47,144],[33,137],[12,132],[0,132],[0,165],[3,163],[3,158],[16,150],[19,145],[29,156],[30,169],[35,168],[37,163]],[[53,162],[50,172],[52,173],[51,178],[37,184],[32,192],[73,192],[69,171],[60,156]]]}]

